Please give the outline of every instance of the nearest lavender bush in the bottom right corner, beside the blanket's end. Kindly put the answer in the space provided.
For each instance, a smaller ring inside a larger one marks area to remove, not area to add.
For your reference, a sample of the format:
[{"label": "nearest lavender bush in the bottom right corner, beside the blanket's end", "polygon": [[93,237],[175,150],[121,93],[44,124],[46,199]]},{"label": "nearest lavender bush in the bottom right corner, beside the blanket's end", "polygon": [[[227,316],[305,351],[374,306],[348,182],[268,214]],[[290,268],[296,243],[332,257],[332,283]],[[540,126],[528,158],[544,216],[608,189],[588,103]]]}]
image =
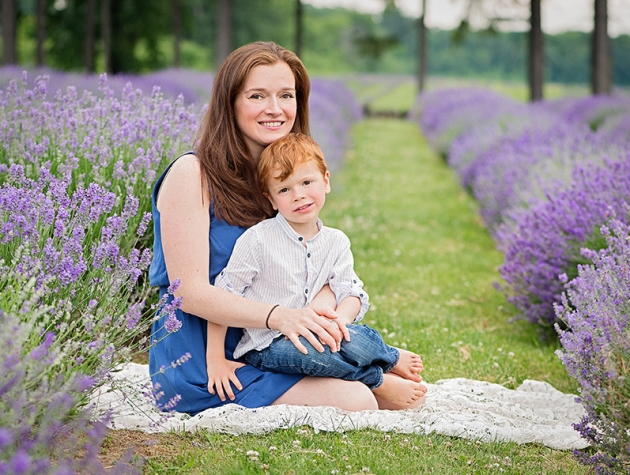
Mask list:
[{"label": "nearest lavender bush in the bottom right corner, beside the blanket's end", "polygon": [[598,473],[623,473],[630,461],[630,206],[623,216],[602,226],[607,247],[583,250],[592,264],[579,266],[555,307],[566,325],[557,354],[580,384],[587,413],[575,429],[597,450],[580,461]]}]

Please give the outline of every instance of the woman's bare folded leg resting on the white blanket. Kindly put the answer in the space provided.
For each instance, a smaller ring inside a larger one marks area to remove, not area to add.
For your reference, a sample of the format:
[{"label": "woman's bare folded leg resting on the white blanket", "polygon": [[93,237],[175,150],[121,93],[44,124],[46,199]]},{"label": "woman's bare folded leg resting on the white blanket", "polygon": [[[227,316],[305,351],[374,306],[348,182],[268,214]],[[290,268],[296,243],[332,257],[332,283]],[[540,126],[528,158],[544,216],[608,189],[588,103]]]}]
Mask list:
[{"label": "woman's bare folded leg resting on the white blanket", "polygon": [[379,408],[376,397],[359,381],[306,376],[273,402],[294,406],[334,406],[345,411]]}]

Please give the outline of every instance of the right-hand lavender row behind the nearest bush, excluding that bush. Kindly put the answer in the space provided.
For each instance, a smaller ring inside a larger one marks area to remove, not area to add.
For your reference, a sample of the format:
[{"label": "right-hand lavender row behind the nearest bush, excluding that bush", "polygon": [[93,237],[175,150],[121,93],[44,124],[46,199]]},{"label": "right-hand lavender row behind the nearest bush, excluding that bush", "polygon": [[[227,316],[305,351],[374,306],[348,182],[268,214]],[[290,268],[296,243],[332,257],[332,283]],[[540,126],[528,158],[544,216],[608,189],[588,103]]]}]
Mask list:
[{"label": "right-hand lavender row behind the nearest bush, excluding that bush", "polygon": [[549,327],[580,248],[602,245],[608,210],[630,200],[630,98],[517,103],[492,91],[440,90],[413,117],[479,202],[505,255],[501,289],[519,317]]}]

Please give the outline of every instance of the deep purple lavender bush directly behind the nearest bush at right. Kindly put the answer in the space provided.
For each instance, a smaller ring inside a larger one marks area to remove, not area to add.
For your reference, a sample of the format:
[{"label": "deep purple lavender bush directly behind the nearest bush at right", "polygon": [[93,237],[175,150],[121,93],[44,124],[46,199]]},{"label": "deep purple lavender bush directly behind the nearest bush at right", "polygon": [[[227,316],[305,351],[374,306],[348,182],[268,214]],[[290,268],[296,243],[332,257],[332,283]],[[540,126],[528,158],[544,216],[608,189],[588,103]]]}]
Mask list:
[{"label": "deep purple lavender bush directly behind the nearest bush at right", "polygon": [[630,159],[620,157],[601,167],[575,168],[570,186],[515,212],[515,224],[499,228],[498,246],[505,255],[502,289],[522,317],[543,326],[555,323],[553,304],[562,293],[558,275],[576,275],[577,265],[588,262],[580,249],[601,248],[605,243],[599,227],[611,210],[621,214],[627,203]]}]

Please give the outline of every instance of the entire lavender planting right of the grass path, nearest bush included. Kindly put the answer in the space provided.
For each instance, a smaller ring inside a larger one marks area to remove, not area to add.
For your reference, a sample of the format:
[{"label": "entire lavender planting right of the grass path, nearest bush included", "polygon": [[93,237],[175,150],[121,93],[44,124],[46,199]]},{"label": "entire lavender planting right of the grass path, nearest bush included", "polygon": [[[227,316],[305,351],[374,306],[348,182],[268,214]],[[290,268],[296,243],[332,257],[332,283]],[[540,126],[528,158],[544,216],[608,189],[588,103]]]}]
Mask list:
[{"label": "entire lavender planting right of the grass path, nearest bush included", "polygon": [[412,113],[476,198],[504,254],[517,318],[559,336],[597,473],[630,461],[630,97],[523,104],[472,88],[420,95]]}]

